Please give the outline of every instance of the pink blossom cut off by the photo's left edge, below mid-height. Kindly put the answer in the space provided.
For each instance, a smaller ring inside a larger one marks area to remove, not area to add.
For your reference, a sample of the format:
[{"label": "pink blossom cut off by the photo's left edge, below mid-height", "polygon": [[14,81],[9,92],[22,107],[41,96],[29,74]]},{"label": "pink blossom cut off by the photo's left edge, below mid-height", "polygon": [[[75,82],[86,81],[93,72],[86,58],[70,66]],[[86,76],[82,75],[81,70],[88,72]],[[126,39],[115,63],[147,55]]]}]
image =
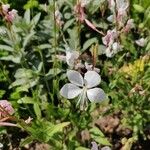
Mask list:
[{"label": "pink blossom cut off by the photo's left edge, below mid-height", "polygon": [[[7,100],[0,100],[0,106],[10,115],[14,113],[14,109],[11,103]],[[3,109],[0,108],[0,118],[5,117],[7,115]]]}]

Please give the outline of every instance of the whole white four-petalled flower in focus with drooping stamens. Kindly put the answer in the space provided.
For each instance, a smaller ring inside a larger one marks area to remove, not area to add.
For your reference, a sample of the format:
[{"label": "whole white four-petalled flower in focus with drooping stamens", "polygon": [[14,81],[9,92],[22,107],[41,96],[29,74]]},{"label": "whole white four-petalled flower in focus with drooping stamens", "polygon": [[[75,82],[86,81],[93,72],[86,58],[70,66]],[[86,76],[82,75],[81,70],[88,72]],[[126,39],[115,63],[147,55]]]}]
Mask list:
[{"label": "whole white four-petalled flower in focus with drooping stamens", "polygon": [[84,109],[87,106],[87,100],[90,102],[101,102],[105,99],[105,92],[96,86],[100,84],[101,77],[95,71],[87,71],[82,75],[75,70],[68,70],[67,77],[71,83],[65,84],[60,94],[67,99],[78,97],[77,105]]}]

